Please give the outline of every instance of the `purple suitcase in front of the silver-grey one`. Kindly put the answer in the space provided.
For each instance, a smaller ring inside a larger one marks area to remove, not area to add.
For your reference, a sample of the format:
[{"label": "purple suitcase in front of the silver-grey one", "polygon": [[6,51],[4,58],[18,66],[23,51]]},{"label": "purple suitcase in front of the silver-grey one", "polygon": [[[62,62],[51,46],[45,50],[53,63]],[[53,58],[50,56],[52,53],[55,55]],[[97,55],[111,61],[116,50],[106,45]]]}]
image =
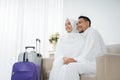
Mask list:
[{"label": "purple suitcase in front of the silver-grey one", "polygon": [[40,66],[28,62],[28,59],[24,58],[23,62],[17,62],[13,65],[11,80],[40,80]]}]

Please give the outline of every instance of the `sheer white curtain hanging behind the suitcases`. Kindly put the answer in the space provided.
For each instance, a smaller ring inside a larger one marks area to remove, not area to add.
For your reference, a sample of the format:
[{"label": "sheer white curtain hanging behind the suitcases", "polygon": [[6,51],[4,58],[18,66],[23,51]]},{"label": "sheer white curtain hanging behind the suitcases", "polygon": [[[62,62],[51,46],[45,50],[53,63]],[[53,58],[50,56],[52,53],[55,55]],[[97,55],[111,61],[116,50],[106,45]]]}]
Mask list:
[{"label": "sheer white curtain hanging behind the suitcases", "polygon": [[50,34],[62,30],[63,0],[0,0],[0,79],[10,80],[19,53],[36,38],[47,57]]}]

